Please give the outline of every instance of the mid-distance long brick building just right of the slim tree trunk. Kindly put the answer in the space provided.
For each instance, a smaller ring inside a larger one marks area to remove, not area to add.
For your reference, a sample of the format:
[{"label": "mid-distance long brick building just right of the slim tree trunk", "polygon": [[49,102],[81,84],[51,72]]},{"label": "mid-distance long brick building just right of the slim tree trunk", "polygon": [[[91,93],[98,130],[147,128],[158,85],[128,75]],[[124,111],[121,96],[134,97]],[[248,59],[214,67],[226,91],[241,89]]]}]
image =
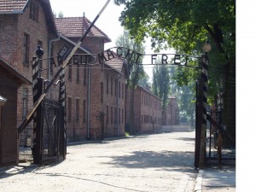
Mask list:
[{"label": "mid-distance long brick building just right of the slim tree trunk", "polygon": [[[127,102],[130,102],[128,94]],[[134,100],[134,125],[137,133],[160,132],[162,127],[161,100],[148,90],[137,85]],[[127,107],[129,108],[129,104]],[[127,111],[129,114],[129,109]]]}]

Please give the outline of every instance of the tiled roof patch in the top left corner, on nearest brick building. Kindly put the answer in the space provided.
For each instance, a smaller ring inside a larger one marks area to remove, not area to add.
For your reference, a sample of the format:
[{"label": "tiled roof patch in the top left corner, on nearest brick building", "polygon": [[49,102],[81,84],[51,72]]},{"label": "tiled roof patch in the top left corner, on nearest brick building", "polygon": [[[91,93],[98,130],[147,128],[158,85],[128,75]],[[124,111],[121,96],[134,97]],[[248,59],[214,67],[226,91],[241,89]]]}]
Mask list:
[{"label": "tiled roof patch in the top left corner, on nearest brick building", "polygon": [[19,14],[26,8],[28,0],[1,0],[0,14]]}]

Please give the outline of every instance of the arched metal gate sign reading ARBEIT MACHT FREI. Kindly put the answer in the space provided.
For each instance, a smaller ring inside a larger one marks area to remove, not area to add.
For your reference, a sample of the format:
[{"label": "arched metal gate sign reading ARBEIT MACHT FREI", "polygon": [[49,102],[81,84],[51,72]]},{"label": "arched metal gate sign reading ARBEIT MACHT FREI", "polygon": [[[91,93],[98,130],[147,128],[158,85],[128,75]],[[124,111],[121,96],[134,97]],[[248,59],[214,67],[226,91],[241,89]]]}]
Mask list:
[{"label": "arched metal gate sign reading ARBEIT MACHT FREI", "polygon": [[[57,57],[50,58],[51,67],[61,66],[62,61],[67,58],[67,55],[70,53],[69,48],[64,46]],[[125,47],[114,47],[106,49],[100,53],[96,54],[74,54],[73,57],[69,60],[69,65],[87,65],[90,63],[96,64],[98,61],[99,64],[110,61],[113,58],[123,58],[126,61],[133,62],[136,64],[142,64],[144,57],[150,57],[150,63],[148,65],[181,65],[186,66],[188,61],[191,60],[190,55],[179,55],[179,54],[141,54],[137,53],[135,50],[127,49]],[[57,61],[55,61],[57,58]],[[148,58],[149,59],[149,58]],[[147,65],[146,64],[146,65]]]}]

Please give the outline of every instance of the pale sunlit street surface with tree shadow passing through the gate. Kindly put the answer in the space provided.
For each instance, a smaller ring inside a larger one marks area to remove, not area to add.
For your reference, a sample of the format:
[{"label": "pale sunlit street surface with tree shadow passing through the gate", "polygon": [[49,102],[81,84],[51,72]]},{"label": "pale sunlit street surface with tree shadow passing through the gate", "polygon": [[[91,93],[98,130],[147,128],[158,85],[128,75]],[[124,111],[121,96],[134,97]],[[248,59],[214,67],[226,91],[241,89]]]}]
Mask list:
[{"label": "pale sunlit street surface with tree shadow passing through the gate", "polygon": [[71,145],[60,163],[2,172],[0,191],[192,192],[194,151],[195,131]]}]

